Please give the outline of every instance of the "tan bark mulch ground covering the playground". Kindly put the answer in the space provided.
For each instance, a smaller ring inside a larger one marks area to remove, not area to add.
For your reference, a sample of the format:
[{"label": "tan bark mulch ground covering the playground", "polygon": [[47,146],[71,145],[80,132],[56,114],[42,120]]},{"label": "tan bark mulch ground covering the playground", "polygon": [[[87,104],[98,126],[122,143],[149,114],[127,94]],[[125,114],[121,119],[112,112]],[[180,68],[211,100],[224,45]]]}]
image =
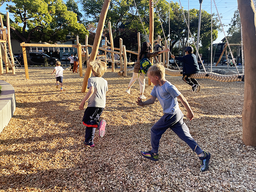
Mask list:
[{"label": "tan bark mulch ground covering the playground", "polygon": [[123,77],[110,70],[103,76],[106,135],[96,131],[94,148],[83,144],[83,77],[64,71],[61,93],[53,68],[29,69],[30,80],[25,72],[1,76],[15,89],[16,110],[0,133],[0,191],[256,191],[256,151],[242,142],[243,82],[199,79],[202,90],[192,93],[181,77],[166,77],[195,114],[189,121],[179,101],[191,135],[211,153],[202,173],[196,154],[172,130],[162,136],[158,162],[140,155],[151,149],[150,128],[163,115],[161,105],[136,105],[138,81],[125,93],[132,72]]}]

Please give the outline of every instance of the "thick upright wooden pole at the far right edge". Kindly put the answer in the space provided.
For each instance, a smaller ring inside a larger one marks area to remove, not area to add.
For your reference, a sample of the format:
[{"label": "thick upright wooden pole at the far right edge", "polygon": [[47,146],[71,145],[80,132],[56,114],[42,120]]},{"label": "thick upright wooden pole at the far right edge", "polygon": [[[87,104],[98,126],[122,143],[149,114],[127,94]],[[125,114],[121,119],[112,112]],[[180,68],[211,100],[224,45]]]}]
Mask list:
[{"label": "thick upright wooden pole at the far right edge", "polygon": [[237,0],[244,41],[244,108],[242,112],[243,142],[256,147],[256,12],[252,0]]}]

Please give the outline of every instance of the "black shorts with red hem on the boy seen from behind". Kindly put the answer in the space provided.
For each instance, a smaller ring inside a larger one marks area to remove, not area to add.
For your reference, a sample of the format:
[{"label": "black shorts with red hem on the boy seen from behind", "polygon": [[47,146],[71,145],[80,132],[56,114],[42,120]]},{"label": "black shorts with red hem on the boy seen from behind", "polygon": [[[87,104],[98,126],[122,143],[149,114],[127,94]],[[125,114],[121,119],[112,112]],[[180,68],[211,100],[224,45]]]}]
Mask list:
[{"label": "black shorts with red hem on the boy seen from behind", "polygon": [[83,115],[83,124],[86,127],[98,127],[99,117],[101,116],[104,108],[87,107]]}]

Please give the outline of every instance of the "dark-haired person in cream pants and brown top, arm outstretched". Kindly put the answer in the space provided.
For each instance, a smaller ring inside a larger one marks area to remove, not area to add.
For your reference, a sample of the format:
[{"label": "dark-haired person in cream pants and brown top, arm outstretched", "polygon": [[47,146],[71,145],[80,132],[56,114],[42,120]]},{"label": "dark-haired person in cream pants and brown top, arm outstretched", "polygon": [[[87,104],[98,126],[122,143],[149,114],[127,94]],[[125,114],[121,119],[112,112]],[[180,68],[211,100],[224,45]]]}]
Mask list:
[{"label": "dark-haired person in cream pants and brown top, arm outstretched", "polygon": [[139,79],[140,83],[140,99],[146,99],[146,97],[143,95],[144,89],[145,89],[145,75],[143,73],[140,73],[140,60],[144,58],[145,56],[147,59],[150,59],[152,57],[155,57],[163,52],[168,52],[169,49],[156,51],[151,53],[150,50],[152,49],[152,46],[148,42],[143,42],[142,48],[140,49],[140,53],[138,56],[138,60],[136,61],[133,69],[132,79],[128,85],[128,89],[125,91],[128,94],[131,94],[130,89],[132,85],[136,82],[137,79]]}]

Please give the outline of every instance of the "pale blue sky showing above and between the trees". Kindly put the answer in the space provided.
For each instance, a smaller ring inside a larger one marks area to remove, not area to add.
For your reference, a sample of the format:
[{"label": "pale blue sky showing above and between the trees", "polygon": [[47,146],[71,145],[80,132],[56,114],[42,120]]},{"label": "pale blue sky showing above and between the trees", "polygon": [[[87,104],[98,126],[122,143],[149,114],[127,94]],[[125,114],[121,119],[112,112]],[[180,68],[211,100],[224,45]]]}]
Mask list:
[{"label": "pale blue sky showing above and between the trees", "polygon": [[[65,0],[64,0],[65,1]],[[167,2],[169,2],[169,0],[166,0]],[[189,9],[197,9],[199,10],[200,8],[200,4],[199,4],[199,0],[180,0],[181,1],[181,5],[185,10]],[[180,4],[180,1],[177,1]],[[173,0],[173,2],[175,2],[175,0]],[[189,3],[189,4],[188,4]],[[234,11],[237,10],[237,0],[215,0],[219,15],[222,16],[221,22],[223,24],[223,28],[225,31],[225,34],[227,35],[227,30],[229,29],[228,24],[230,24],[231,19],[234,16]],[[10,4],[10,3],[9,3]],[[82,10],[82,6],[80,4],[79,5],[79,11],[83,14]],[[188,6],[189,5],[189,6]],[[0,7],[0,12],[2,13],[6,13],[6,4],[3,4]],[[202,10],[207,11],[209,14],[211,14],[211,0],[203,0],[202,2]],[[212,0],[212,12],[217,14],[215,5],[214,5],[214,0]],[[13,20],[13,15],[10,14],[10,18]],[[218,38],[214,41],[214,43],[219,43],[221,42],[221,40],[225,37],[223,31],[219,31],[218,32]]]}]

